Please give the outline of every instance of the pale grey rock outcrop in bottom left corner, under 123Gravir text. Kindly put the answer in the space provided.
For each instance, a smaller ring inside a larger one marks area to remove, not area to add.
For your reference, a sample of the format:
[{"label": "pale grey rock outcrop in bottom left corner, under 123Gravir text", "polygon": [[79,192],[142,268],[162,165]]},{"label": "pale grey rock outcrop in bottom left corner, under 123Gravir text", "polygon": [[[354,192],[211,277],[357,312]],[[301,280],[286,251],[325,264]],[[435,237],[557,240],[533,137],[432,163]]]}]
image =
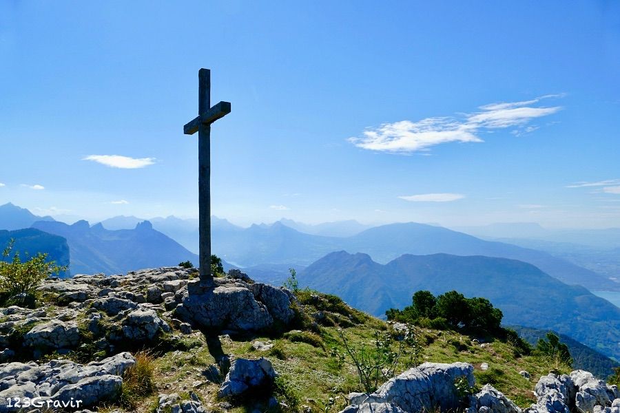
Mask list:
[{"label": "pale grey rock outcrop in bottom left corner, under 123Gravir text", "polygon": [[14,398],[39,398],[45,405],[80,401],[71,410],[113,400],[121,391],[123,373],[134,363],[136,359],[123,352],[87,365],[70,360],[0,364],[0,413],[19,410],[9,407],[8,399]]}]

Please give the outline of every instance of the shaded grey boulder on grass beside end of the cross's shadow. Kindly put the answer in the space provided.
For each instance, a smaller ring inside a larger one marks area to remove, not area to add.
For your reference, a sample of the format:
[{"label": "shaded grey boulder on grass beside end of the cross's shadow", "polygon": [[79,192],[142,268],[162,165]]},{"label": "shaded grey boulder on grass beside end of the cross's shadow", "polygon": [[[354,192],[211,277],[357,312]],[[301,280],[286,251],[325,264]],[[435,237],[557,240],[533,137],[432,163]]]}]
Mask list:
[{"label": "shaded grey boulder on grass beside end of the cross's shadow", "polygon": [[258,360],[236,359],[231,364],[226,379],[220,386],[218,396],[240,396],[248,390],[268,387],[276,378],[276,371],[271,361],[260,358]]}]

